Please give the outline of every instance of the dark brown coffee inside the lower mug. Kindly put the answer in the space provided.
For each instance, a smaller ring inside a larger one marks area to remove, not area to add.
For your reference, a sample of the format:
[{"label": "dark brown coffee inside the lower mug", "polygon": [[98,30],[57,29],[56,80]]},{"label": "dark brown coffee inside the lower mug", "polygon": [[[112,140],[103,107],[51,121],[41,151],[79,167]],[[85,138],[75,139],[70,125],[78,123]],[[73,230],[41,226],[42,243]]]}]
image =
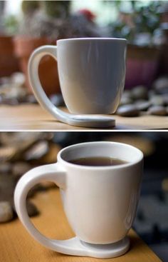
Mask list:
[{"label": "dark brown coffee inside the lower mug", "polygon": [[119,158],[110,158],[103,156],[83,157],[70,160],[69,163],[75,163],[80,166],[118,166],[127,163]]}]

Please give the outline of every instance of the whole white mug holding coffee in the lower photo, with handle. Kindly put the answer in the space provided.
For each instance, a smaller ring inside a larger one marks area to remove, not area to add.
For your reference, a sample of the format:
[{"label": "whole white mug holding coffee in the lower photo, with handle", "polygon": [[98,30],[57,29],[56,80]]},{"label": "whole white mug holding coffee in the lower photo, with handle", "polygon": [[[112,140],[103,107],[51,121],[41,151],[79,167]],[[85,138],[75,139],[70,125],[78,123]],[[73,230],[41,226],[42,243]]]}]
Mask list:
[{"label": "whole white mug holding coffee in the lower photo, with handle", "polygon": [[[86,156],[121,158],[128,163],[103,167],[68,163]],[[58,163],[33,168],[20,179],[14,194],[16,211],[33,238],[47,248],[75,256],[120,256],[129,248],[126,236],[135,218],[142,166],[142,152],[124,143],[68,146],[58,153]],[[60,187],[65,214],[75,238],[66,241],[46,238],[28,218],[28,191],[44,180]]]}]

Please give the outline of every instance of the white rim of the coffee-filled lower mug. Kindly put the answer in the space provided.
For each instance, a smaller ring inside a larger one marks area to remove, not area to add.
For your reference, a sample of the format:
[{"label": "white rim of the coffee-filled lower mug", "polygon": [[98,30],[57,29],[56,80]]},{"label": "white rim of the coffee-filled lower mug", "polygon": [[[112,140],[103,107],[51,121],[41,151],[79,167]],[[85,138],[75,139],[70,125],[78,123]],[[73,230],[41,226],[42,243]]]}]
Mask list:
[{"label": "white rim of the coffee-filled lower mug", "polygon": [[[137,151],[137,153],[139,154],[139,156],[137,157],[137,159],[135,161],[132,161],[132,162],[128,162],[128,163],[123,163],[123,164],[120,164],[120,165],[116,165],[116,166],[83,166],[83,165],[78,165],[78,164],[75,164],[75,163],[70,163],[66,160],[64,160],[62,158],[62,153],[64,151],[67,151],[68,149],[70,148],[78,148],[80,146],[85,146],[85,145],[88,145],[88,144],[111,144],[111,145],[121,145],[121,146],[127,146],[128,148],[130,149],[134,149]],[[93,142],[85,142],[85,143],[75,143],[71,146],[66,146],[65,148],[61,149],[61,151],[59,151],[58,153],[58,156],[57,156],[57,159],[58,159],[58,163],[63,163],[63,165],[65,166],[71,166],[73,168],[82,168],[82,169],[85,169],[85,170],[110,170],[110,169],[120,169],[120,168],[127,168],[129,166],[134,166],[135,164],[137,163],[140,163],[144,158],[144,154],[142,153],[142,151],[140,151],[140,149],[136,148],[135,146],[131,146],[127,143],[120,143],[120,142],[113,142],[113,141],[93,141]]]}]

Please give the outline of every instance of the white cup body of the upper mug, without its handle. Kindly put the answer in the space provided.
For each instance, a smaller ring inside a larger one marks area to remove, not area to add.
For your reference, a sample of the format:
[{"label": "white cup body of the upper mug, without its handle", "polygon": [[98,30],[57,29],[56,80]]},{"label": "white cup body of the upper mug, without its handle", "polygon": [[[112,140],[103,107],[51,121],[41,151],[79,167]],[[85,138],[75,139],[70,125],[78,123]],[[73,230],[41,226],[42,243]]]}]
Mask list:
[{"label": "white cup body of the upper mug, without its handle", "polygon": [[73,114],[111,114],[125,84],[125,39],[57,41],[63,99]]}]

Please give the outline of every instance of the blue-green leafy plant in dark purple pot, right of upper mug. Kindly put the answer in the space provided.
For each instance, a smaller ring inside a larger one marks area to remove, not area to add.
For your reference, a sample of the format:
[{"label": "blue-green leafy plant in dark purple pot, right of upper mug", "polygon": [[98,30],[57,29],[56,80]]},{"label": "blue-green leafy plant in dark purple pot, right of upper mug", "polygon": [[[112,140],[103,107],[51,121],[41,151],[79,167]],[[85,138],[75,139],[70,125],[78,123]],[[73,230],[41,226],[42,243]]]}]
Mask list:
[{"label": "blue-green leafy plant in dark purple pot, right of upper mug", "polygon": [[154,45],[153,36],[159,28],[157,10],[161,4],[159,1],[150,1],[148,6],[140,6],[138,1],[130,1],[130,4],[130,11],[120,9],[119,19],[110,25],[111,35],[128,41],[125,87],[140,84],[150,87],[159,64],[160,50]]}]

